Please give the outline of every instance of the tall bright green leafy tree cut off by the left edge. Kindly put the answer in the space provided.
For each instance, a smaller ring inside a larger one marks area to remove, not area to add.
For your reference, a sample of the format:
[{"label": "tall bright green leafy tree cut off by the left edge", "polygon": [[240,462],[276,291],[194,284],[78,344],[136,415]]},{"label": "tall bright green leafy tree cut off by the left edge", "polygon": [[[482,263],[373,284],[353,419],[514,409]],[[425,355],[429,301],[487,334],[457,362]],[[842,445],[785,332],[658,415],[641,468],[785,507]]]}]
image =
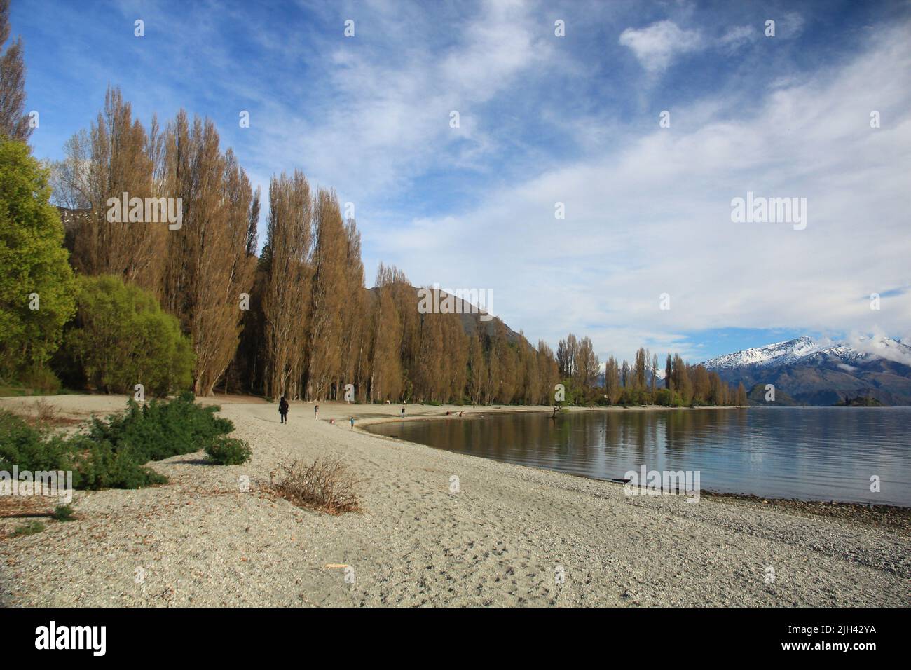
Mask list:
[{"label": "tall bright green leafy tree cut off by the left edge", "polygon": [[26,144],[0,140],[0,376],[43,367],[75,310],[48,180]]}]

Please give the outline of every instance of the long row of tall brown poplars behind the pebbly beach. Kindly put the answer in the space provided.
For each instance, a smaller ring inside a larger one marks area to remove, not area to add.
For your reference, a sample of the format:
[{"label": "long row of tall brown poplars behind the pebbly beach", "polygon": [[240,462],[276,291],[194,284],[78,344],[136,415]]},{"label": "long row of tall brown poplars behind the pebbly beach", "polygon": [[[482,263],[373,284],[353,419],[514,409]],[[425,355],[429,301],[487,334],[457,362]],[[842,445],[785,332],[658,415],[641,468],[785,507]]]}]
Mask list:
[{"label": "long row of tall brown poplars behind the pebbly beach", "polygon": [[[381,264],[365,288],[360,232],[335,193],[294,170],[274,176],[261,202],[209,119],[181,111],[147,130],[112,88],[50,168],[77,275],[120,277],[177,317],[198,395],[320,400],[351,388],[367,402],[551,401],[559,378],[546,343],[535,347],[497,319],[466,328],[459,314],[419,314],[415,288],[395,267]],[[123,193],[179,198],[179,229],[108,221],[108,199]]]}]

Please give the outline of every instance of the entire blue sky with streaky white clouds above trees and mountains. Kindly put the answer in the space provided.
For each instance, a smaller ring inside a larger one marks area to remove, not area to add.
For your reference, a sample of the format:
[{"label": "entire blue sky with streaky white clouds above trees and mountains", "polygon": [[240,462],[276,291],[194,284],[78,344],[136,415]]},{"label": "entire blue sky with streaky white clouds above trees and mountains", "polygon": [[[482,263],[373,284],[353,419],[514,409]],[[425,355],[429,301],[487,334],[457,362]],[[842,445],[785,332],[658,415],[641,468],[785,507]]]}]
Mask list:
[{"label": "entire blue sky with streaky white clouds above trees and mountains", "polygon": [[[14,0],[11,21],[36,156],[108,83],[144,122],[208,116],[263,191],[298,168],[354,203],[368,285],[382,260],[489,289],[532,341],[602,360],[911,335],[907,2]],[[747,191],[807,198],[806,228],[732,222]]]}]

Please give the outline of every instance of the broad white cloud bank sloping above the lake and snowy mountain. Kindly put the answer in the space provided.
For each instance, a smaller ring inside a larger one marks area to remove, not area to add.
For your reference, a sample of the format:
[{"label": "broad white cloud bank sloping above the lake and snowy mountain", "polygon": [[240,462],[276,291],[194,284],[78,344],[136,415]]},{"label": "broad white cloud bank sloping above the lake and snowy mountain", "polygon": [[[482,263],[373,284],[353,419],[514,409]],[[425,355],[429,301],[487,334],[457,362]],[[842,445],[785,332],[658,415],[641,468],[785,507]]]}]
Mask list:
[{"label": "broad white cloud bank sloping above the lake and snowy mountain", "polygon": [[[880,32],[854,61],[768,92],[677,108],[673,129],[390,232],[379,253],[407,249],[417,283],[491,287],[498,313],[530,338],[573,329],[602,356],[702,328],[900,334],[911,293],[880,312],[856,296],[902,283],[911,257],[905,36]],[[869,127],[873,105],[890,119],[881,129]],[[807,198],[806,230],[732,223],[730,202],[747,191]],[[659,310],[665,292],[670,311]]]}]

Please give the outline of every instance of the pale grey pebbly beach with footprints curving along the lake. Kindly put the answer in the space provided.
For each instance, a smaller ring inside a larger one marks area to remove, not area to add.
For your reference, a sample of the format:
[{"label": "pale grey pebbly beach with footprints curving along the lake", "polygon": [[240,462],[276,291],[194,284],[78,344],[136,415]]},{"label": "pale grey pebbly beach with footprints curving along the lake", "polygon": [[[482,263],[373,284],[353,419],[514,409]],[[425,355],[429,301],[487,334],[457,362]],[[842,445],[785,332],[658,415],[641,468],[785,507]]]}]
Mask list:
[{"label": "pale grey pebbly beach with footprints curving along the lake", "polygon": [[[124,405],[47,400],[73,418]],[[314,421],[311,404],[292,403],[281,425],[274,404],[216,402],[251,443],[250,462],[210,466],[200,452],[156,463],[170,479],[161,487],[77,492],[78,521],[0,541],[0,604],[909,604],[911,537],[900,529],[752,500],[627,497],[608,482],[380,438],[344,420],[397,416],[397,405],[320,403]],[[460,407],[408,415],[447,409]],[[278,462],[322,456],[366,479],[362,513],[301,510],[266,490]],[[21,522],[0,520],[0,531]],[[351,566],[349,581],[327,565]]]}]

